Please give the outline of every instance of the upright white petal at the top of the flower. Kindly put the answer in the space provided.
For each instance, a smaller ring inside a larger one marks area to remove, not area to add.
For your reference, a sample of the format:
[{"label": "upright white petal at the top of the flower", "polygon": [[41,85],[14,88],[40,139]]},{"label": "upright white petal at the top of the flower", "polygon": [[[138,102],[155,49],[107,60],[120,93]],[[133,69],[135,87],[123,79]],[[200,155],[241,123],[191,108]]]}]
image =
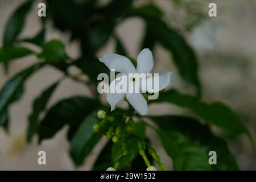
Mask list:
[{"label": "upright white petal at the top of the flower", "polygon": [[148,48],[144,48],[137,57],[137,73],[150,73],[154,67],[154,59],[152,52]]}]

